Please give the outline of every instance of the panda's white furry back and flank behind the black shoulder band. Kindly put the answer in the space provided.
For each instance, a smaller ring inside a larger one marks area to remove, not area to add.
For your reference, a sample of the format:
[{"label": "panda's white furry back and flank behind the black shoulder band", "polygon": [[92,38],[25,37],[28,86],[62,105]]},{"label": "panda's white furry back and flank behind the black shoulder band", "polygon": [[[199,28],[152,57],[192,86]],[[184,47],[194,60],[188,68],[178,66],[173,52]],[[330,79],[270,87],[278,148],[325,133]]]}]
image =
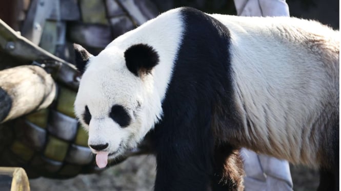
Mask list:
[{"label": "panda's white furry back and flank behind the black shoulder band", "polygon": [[316,165],[338,115],[339,32],[297,18],[211,16],[230,31],[243,145]]}]

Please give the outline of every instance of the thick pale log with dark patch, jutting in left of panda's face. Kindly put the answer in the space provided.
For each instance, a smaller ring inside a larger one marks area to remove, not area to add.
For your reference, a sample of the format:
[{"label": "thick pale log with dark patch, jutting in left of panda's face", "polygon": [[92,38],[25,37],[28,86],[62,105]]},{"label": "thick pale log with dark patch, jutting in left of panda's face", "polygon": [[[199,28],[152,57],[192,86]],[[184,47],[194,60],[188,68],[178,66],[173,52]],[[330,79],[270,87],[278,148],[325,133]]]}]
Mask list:
[{"label": "thick pale log with dark patch, jutting in left of panda's face", "polygon": [[55,94],[52,77],[39,66],[0,70],[0,123],[48,107]]}]

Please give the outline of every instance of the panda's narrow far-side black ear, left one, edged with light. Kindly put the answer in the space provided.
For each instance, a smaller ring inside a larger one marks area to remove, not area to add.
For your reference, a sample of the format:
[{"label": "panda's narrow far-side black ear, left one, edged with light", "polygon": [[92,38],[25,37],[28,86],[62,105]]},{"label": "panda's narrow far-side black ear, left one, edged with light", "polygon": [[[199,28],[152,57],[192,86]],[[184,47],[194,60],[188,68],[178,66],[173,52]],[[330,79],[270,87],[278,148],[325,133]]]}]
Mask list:
[{"label": "panda's narrow far-side black ear, left one, edged with light", "polygon": [[85,71],[85,66],[87,65],[89,58],[92,57],[92,55],[87,50],[85,50],[83,46],[76,43],[73,44],[73,50],[76,67],[79,71],[81,71],[81,74],[83,74]]}]

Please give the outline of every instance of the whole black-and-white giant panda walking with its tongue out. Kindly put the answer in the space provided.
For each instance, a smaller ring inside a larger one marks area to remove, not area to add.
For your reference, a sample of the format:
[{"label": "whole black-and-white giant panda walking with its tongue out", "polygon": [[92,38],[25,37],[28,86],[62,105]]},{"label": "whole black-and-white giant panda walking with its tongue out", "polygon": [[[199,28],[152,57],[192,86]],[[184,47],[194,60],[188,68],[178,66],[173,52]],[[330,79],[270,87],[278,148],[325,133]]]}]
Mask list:
[{"label": "whole black-and-white giant panda walking with its tongue out", "polygon": [[338,190],[339,38],[316,21],[173,9],[81,51],[75,113],[101,168],[152,133],[155,190],[210,190],[217,169],[238,175],[224,161],[242,147]]}]

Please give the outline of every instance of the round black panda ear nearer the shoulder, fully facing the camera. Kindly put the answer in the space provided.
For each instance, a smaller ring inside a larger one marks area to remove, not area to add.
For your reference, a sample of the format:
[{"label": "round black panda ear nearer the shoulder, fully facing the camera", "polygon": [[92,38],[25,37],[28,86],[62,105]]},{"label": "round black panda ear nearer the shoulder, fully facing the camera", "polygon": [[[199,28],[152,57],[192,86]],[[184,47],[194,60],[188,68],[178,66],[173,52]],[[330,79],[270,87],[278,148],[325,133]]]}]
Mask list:
[{"label": "round black panda ear nearer the shoulder, fully facing the camera", "polygon": [[124,53],[126,65],[135,76],[141,77],[150,73],[159,62],[158,54],[148,44],[134,44]]}]

